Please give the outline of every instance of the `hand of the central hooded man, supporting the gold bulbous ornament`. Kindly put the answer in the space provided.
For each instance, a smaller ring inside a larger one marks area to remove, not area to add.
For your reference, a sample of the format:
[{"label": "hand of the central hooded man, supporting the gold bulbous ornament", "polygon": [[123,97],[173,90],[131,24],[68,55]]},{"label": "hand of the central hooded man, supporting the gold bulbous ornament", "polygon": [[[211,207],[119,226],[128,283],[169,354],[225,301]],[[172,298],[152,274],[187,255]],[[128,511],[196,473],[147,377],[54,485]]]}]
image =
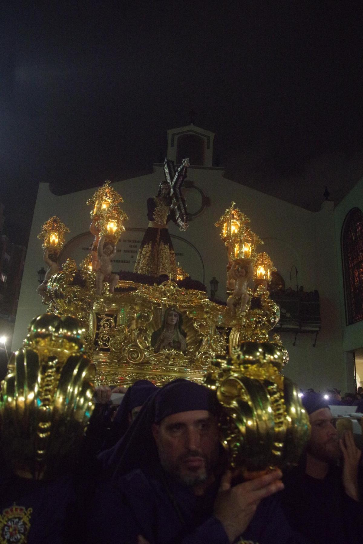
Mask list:
[{"label": "hand of the central hooded man, supporting the gold bulbous ornament", "polygon": [[235,541],[248,527],[260,501],[284,489],[280,481],[282,473],[275,471],[254,480],[231,487],[232,474],[227,471],[222,477],[214,516],[222,523],[230,542]]}]

